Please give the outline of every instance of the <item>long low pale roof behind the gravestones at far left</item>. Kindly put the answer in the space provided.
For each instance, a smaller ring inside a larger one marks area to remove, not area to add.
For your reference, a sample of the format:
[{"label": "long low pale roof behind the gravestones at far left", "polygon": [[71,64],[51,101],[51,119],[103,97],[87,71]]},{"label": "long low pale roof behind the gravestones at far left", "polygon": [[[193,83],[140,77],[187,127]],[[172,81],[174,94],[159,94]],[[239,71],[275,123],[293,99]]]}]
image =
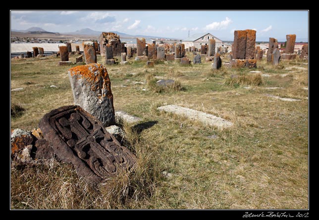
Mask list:
[{"label": "long low pale roof behind the gravestones at far left", "polygon": [[[27,44],[11,44],[11,54],[15,53],[26,53],[27,51],[32,52],[33,47],[39,47],[43,48],[44,52],[58,52],[59,51],[59,46],[66,46],[66,44],[60,43],[60,44],[49,44],[49,43],[42,43],[42,44],[32,44],[32,43],[27,43]],[[83,51],[83,46],[82,44],[71,44],[72,51],[76,51],[75,46],[80,47],[80,51]]]}]

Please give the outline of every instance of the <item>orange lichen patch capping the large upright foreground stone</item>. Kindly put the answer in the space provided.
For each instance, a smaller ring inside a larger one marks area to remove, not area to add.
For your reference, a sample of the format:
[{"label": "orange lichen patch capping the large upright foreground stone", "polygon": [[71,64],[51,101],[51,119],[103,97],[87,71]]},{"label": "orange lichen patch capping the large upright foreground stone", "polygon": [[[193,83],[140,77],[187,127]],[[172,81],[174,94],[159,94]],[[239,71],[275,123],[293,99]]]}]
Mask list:
[{"label": "orange lichen patch capping the large upright foreground stone", "polygon": [[[100,63],[89,63],[87,65],[75,66],[69,69],[71,76],[77,79],[84,78],[91,86],[92,91],[98,91],[98,98],[113,98],[111,92],[111,81],[106,68]],[[99,82],[103,79],[103,84]],[[106,91],[106,93],[105,93]]]}]

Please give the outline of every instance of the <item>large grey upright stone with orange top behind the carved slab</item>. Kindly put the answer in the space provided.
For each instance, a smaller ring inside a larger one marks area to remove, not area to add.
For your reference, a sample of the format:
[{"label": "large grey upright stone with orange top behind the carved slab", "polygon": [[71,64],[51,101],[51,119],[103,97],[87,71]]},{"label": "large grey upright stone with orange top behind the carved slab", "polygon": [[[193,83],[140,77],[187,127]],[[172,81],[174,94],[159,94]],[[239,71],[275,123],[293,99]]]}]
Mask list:
[{"label": "large grey upright stone with orange top behind the carved slab", "polygon": [[106,68],[90,63],[68,70],[74,103],[94,115],[107,127],[115,123],[111,82]]}]

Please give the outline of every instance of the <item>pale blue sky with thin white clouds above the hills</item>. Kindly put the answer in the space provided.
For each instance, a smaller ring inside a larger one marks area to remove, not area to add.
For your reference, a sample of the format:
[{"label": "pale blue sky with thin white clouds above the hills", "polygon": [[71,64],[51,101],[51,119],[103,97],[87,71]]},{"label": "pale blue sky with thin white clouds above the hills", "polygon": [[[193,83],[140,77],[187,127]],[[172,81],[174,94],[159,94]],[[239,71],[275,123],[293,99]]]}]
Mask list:
[{"label": "pale blue sky with thin white clouds above the hills", "polygon": [[211,33],[223,41],[234,39],[234,30],[254,29],[256,41],[269,37],[308,41],[309,11],[10,11],[11,29],[40,27],[50,32],[83,28],[185,39],[188,34]]}]

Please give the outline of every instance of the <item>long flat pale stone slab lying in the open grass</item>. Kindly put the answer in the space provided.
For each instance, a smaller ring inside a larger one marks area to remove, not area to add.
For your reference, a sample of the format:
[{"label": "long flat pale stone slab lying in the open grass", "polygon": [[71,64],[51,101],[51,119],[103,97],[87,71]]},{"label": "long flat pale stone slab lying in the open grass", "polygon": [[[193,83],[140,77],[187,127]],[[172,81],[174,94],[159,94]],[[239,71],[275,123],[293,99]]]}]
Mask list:
[{"label": "long flat pale stone slab lying in the open grass", "polygon": [[221,117],[217,117],[213,114],[208,114],[203,111],[193,110],[181,106],[175,105],[168,105],[168,106],[161,106],[158,110],[163,110],[166,112],[172,112],[178,115],[184,115],[193,120],[199,120],[204,124],[215,126],[218,128],[227,128],[233,126],[233,123],[226,121]]}]

